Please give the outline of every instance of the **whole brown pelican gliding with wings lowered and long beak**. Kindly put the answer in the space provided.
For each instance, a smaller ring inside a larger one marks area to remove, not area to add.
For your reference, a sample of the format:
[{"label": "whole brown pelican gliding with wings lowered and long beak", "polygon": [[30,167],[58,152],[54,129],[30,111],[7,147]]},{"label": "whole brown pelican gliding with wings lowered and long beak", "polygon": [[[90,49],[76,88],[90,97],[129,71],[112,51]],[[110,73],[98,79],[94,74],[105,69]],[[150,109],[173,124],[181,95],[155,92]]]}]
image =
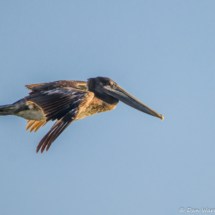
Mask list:
[{"label": "whole brown pelican gliding with wings lowered and long beak", "polygon": [[75,120],[113,110],[119,101],[146,114],[163,116],[138,101],[109,78],[97,77],[84,81],[56,81],[26,85],[31,91],[25,98],[0,106],[0,115],[27,119],[30,132],[36,132],[48,121],[56,120],[37,146],[41,153]]}]

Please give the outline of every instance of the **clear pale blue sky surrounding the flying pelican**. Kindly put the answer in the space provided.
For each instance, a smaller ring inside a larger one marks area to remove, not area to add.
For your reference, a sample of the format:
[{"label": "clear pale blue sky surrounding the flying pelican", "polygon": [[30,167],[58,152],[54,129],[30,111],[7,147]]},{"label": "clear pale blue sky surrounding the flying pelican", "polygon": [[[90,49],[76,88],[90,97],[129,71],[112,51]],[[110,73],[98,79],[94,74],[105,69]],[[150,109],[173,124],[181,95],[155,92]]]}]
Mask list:
[{"label": "clear pale blue sky surrounding the flying pelican", "polygon": [[[26,84],[109,77],[120,103],[48,132],[0,118],[0,214],[182,214],[215,208],[215,1],[1,1],[0,105]],[[184,212],[186,213],[186,212]]]}]

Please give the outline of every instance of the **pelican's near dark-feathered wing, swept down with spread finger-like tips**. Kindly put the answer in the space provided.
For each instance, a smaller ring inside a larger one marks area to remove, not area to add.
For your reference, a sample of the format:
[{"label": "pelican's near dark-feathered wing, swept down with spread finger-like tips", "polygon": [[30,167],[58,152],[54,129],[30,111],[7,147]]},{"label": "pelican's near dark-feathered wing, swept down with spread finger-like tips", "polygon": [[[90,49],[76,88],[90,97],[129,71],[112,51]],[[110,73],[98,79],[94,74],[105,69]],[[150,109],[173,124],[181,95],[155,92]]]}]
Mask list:
[{"label": "pelican's near dark-feathered wing, swept down with spread finger-like tips", "polygon": [[25,97],[38,105],[46,122],[57,120],[50,131],[40,141],[37,152],[49,149],[52,142],[72,123],[92,100],[94,93],[72,87],[61,87],[43,91],[33,91]]}]

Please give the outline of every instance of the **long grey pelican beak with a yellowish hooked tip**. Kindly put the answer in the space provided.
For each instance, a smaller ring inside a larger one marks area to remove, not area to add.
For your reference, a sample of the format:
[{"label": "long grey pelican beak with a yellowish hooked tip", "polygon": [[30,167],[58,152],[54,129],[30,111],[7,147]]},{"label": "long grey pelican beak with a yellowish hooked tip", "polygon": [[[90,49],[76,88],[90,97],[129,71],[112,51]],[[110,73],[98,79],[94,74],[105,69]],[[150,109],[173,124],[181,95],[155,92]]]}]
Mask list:
[{"label": "long grey pelican beak with a yellowish hooked tip", "polygon": [[159,117],[162,120],[164,119],[164,117],[155,112],[154,110],[152,110],[150,107],[146,106],[145,104],[143,104],[142,102],[140,102],[139,100],[137,100],[136,98],[134,98],[132,95],[130,95],[128,92],[126,92],[124,89],[122,89],[120,86],[117,86],[115,89],[112,89],[110,87],[106,88],[104,87],[104,91],[113,96],[114,98],[119,99],[121,102],[124,102],[125,104],[139,110],[142,111],[146,114],[155,116],[155,117]]}]

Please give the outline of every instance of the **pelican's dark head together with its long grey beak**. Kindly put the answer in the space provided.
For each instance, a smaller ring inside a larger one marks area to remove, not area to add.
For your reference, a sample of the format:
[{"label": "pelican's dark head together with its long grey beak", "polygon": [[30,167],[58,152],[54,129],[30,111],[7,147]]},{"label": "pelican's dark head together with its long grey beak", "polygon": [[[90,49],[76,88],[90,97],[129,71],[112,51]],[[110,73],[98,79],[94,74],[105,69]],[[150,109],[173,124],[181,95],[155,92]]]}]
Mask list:
[{"label": "pelican's dark head together with its long grey beak", "polygon": [[121,101],[139,111],[142,111],[143,113],[159,117],[162,120],[164,119],[161,114],[155,112],[154,110],[134,98],[110,78],[89,78],[87,81],[87,86],[88,90],[94,92],[96,97],[109,104],[116,104],[118,103],[118,101]]}]

